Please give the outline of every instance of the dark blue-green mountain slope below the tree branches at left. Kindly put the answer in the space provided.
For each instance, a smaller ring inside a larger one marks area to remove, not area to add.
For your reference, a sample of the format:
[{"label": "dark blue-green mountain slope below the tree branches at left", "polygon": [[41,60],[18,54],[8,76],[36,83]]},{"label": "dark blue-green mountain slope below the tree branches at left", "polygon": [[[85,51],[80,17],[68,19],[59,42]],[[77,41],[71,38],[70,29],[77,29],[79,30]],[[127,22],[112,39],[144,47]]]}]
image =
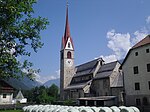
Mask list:
[{"label": "dark blue-green mountain slope below the tree branches at left", "polygon": [[23,77],[20,79],[10,78],[9,80],[5,80],[9,85],[14,87],[17,90],[29,90],[36,86],[41,86],[42,83],[36,80],[30,80],[28,77]]}]

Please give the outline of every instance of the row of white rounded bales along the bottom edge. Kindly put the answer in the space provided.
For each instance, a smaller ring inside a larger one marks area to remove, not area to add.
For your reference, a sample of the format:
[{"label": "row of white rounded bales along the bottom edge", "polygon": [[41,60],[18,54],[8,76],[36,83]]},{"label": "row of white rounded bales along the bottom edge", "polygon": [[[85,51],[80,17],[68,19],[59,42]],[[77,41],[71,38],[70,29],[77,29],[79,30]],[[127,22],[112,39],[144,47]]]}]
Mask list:
[{"label": "row of white rounded bales along the bottom edge", "polygon": [[112,107],[89,107],[89,106],[61,106],[61,105],[30,105],[22,108],[24,112],[140,112],[136,107],[112,106]]}]

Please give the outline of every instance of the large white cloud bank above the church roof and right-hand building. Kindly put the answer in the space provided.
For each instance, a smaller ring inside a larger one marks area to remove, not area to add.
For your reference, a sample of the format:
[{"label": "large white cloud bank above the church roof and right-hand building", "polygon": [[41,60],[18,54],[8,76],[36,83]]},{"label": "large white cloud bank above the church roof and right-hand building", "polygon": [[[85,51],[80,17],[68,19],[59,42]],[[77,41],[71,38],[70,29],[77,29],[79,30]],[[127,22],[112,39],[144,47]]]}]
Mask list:
[{"label": "large white cloud bank above the church roof and right-hand building", "polygon": [[111,60],[117,60],[123,59],[128,50],[135,45],[137,42],[142,40],[146,35],[150,33],[150,16],[146,19],[146,25],[135,31],[133,34],[129,33],[118,33],[114,29],[107,32],[107,38],[108,38],[108,48],[110,48],[114,54],[109,56],[102,56],[106,62],[111,62]]}]

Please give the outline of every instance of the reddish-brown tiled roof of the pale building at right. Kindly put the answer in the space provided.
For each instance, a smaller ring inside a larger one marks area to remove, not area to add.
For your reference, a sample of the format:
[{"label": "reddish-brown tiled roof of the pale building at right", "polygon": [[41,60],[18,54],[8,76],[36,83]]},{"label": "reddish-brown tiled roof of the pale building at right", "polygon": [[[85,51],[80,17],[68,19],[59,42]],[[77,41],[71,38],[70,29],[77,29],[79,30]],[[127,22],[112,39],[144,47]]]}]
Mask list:
[{"label": "reddish-brown tiled roof of the pale building at right", "polygon": [[135,44],[132,49],[146,45],[146,44],[150,44],[150,35],[147,35],[144,39],[142,39],[140,42],[138,42],[137,44]]}]

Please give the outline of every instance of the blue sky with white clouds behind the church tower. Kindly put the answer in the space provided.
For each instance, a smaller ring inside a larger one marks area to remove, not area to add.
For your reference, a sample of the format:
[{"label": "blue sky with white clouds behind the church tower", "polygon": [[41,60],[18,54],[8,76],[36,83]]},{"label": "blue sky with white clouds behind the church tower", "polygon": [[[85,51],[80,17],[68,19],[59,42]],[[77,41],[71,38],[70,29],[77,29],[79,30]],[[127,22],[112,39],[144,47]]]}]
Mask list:
[{"label": "blue sky with white clouds behind the church tower", "polygon": [[[150,0],[69,0],[69,23],[75,46],[75,65],[97,57],[106,62],[124,58],[150,31]],[[48,18],[41,32],[43,48],[29,58],[40,68],[38,80],[59,77],[66,0],[38,0],[34,16]]]}]

